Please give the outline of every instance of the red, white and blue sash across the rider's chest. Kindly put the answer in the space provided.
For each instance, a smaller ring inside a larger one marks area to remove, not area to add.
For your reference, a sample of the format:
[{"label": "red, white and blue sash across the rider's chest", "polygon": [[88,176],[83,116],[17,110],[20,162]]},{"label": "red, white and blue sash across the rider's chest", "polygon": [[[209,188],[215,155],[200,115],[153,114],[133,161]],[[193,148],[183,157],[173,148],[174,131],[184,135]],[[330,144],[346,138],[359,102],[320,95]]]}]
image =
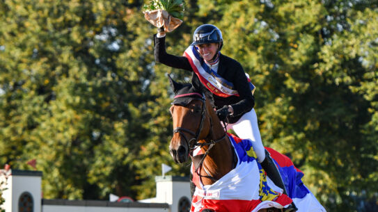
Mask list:
[{"label": "red, white and blue sash across the rider's chest", "polygon": [[[230,97],[232,95],[239,97],[239,93],[235,90],[233,83],[223,79],[223,77],[219,76],[214,70],[210,69],[210,67],[205,64],[203,58],[200,57],[198,51],[194,48],[194,46],[189,46],[187,50],[185,50],[184,56],[189,60],[191,68],[194,73],[197,74],[201,83],[203,83],[203,85],[205,85],[214,95],[219,97]],[[255,85],[251,83],[247,74],[246,77],[249,81],[251,92],[253,93]]]}]

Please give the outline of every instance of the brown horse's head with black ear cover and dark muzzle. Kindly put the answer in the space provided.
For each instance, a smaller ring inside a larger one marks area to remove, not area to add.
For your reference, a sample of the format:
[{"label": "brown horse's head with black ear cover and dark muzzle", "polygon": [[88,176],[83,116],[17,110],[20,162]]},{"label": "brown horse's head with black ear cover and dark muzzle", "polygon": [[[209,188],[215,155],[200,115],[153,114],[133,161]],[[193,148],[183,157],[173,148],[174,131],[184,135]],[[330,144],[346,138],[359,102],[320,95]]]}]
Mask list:
[{"label": "brown horse's head with black ear cover and dark muzzle", "polygon": [[[203,92],[190,83],[176,83],[169,77],[175,98],[170,108],[173,117],[173,137],[169,152],[175,163],[185,163],[197,141],[207,136],[210,120]],[[210,106],[211,108],[211,106]]]}]

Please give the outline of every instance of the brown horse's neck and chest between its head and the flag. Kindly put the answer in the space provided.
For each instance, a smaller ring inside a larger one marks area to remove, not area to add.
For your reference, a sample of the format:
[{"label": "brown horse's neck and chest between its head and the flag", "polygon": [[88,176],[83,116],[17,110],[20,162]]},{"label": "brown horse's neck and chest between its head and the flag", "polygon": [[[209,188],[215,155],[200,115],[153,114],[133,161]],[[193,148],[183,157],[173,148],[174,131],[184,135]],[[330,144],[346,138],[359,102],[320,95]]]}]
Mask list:
[{"label": "brown horse's neck and chest between its head and the flag", "polygon": [[[204,142],[210,142],[210,140],[219,140],[225,135],[225,131],[221,126],[221,123],[216,117],[214,111],[209,111],[211,117],[212,129],[210,138],[207,138]],[[206,152],[209,146],[204,146],[202,148],[203,152]],[[233,147],[230,142],[230,138],[226,135],[223,139],[216,142],[216,145],[210,149],[209,154],[203,161],[203,167],[200,168],[200,174],[203,176],[210,175],[212,178],[201,177],[201,181],[204,185],[214,184],[214,179],[220,179],[225,174],[233,169],[234,153]]]}]

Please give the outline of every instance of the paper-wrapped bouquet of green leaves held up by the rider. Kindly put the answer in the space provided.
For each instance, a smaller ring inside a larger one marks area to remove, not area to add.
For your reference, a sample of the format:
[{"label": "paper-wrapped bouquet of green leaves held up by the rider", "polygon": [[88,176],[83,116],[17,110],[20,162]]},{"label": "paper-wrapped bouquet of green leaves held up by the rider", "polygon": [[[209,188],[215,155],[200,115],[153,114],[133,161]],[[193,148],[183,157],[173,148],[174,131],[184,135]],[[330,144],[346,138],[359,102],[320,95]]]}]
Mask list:
[{"label": "paper-wrapped bouquet of green leaves held up by the rider", "polygon": [[143,8],[145,19],[157,28],[164,26],[166,32],[171,32],[182,24],[183,0],[151,0]]}]

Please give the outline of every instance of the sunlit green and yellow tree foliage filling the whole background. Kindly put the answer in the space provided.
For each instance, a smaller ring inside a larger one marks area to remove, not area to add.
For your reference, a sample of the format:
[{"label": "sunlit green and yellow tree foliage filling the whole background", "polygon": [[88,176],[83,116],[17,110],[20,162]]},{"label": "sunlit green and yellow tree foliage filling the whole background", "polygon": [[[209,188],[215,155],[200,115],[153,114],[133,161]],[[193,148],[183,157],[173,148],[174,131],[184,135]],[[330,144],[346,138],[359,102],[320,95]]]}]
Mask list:
[{"label": "sunlit green and yellow tree foliage filling the whole background", "polygon": [[[37,159],[44,198],[155,196],[173,163],[171,89],[155,65],[143,1],[0,1],[0,164]],[[182,55],[194,29],[221,28],[222,53],[257,86],[266,146],[290,154],[328,211],[377,199],[375,1],[187,1],[166,38]],[[365,204],[368,205],[368,204]]]}]

